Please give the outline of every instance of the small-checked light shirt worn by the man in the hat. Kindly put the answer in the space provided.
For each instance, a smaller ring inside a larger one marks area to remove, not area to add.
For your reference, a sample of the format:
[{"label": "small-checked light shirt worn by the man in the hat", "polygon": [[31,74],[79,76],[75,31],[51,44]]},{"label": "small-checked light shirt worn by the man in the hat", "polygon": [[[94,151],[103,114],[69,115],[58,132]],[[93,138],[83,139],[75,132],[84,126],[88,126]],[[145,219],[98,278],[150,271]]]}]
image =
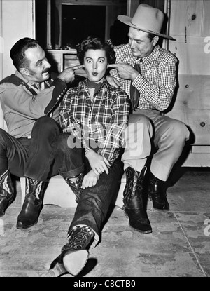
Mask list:
[{"label": "small-checked light shirt worn by the man in the hat", "polygon": [[[176,57],[160,46],[155,46],[151,55],[144,57],[142,62],[132,55],[129,44],[116,46],[114,50],[116,63],[127,62],[132,67],[137,63],[141,67],[141,74],[132,83],[140,93],[138,108],[159,111],[167,109],[176,88]],[[120,81],[121,88],[130,96],[131,81],[121,79],[116,69],[112,69],[110,74]]]}]

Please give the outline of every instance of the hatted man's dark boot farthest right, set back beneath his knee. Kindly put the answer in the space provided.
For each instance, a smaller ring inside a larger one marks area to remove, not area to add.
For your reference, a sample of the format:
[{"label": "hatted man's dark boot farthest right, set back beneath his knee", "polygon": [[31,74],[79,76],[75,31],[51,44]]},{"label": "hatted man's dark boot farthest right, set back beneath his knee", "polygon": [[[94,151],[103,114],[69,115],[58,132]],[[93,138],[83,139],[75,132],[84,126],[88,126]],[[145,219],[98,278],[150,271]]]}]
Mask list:
[{"label": "hatted man's dark boot farthest right, set back beneath his knee", "polygon": [[148,197],[153,201],[153,208],[168,211],[169,203],[163,186],[164,182],[151,173],[148,184]]}]

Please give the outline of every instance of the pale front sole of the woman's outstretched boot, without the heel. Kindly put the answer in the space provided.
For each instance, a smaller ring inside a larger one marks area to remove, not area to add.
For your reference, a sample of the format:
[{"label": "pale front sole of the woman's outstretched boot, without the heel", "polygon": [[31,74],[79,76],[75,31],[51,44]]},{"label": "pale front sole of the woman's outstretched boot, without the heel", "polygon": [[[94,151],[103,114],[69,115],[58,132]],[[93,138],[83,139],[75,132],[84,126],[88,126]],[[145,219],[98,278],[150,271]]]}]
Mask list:
[{"label": "pale front sole of the woman's outstretched boot, without the heel", "polygon": [[71,273],[71,275],[76,276],[84,268],[87,259],[89,257],[89,252],[87,250],[69,250],[66,252],[63,258],[63,263],[66,271]]}]

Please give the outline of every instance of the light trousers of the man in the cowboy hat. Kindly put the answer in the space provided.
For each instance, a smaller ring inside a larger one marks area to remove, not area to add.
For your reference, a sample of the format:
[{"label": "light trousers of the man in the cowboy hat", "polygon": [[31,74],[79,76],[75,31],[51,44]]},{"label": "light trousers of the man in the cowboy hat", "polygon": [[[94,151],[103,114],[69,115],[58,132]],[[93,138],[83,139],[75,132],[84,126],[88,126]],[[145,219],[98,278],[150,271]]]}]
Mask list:
[{"label": "light trousers of the man in the cowboy hat", "polygon": [[158,179],[167,181],[190,132],[185,123],[158,110],[136,110],[130,115],[125,133],[124,169],[131,166],[141,172],[155,149],[150,170]]}]

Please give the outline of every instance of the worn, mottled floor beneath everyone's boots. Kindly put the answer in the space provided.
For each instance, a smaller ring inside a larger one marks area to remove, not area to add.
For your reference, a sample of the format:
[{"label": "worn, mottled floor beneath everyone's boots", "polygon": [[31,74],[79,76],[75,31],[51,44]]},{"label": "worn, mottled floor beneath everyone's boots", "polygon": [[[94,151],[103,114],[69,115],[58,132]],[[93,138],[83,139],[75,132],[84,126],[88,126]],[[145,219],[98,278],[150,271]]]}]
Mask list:
[{"label": "worn, mottled floor beneath everyone's boots", "polygon": [[[155,211],[148,202],[152,234],[132,230],[115,207],[80,277],[210,277],[209,178],[208,168],[175,172],[167,189],[170,211]],[[45,205],[38,224],[18,230],[20,196],[19,190],[0,219],[0,277],[45,274],[66,243],[73,217],[74,208]]]}]

